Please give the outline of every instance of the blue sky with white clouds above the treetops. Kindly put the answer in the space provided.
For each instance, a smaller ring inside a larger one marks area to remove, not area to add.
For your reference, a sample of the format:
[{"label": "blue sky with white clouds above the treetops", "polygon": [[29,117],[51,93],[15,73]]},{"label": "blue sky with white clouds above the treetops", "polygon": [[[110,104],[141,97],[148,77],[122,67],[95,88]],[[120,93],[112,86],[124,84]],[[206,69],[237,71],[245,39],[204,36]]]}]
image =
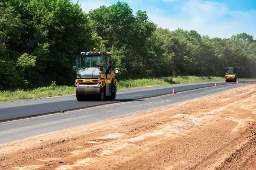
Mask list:
[{"label": "blue sky with white clouds above the treetops", "polygon": [[[73,0],[76,2],[76,0]],[[122,0],[120,0],[122,2]],[[88,12],[117,0],[79,0]],[[158,27],[195,30],[210,38],[230,38],[245,32],[256,39],[256,0],[125,0],[133,9],[147,11]]]}]

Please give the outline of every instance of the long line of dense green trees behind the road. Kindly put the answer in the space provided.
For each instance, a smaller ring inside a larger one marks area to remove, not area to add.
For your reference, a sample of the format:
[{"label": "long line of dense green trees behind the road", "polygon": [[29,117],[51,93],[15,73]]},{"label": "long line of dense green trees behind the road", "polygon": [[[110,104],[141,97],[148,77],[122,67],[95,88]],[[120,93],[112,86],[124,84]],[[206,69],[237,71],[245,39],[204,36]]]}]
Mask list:
[{"label": "long line of dense green trees behind the road", "polygon": [[246,33],[221,39],[157,28],[120,1],[88,14],[71,0],[0,2],[0,90],[73,85],[76,55],[93,48],[112,52],[119,79],[224,77],[225,67],[256,78],[256,40]]}]

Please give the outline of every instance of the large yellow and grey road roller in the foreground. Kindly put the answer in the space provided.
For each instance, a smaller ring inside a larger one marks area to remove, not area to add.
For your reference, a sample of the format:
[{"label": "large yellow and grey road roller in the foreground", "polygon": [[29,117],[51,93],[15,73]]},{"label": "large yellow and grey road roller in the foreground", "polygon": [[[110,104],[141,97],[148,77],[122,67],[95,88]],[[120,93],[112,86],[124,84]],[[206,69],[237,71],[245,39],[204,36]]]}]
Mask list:
[{"label": "large yellow and grey road roller in the foreground", "polygon": [[111,68],[111,52],[81,52],[73,69],[78,101],[116,98],[118,69]]}]

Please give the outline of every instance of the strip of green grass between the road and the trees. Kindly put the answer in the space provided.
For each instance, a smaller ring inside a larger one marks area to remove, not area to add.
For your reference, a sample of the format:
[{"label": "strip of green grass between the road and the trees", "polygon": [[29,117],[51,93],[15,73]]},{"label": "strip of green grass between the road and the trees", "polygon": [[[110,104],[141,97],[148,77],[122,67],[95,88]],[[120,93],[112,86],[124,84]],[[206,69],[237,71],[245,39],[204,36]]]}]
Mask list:
[{"label": "strip of green grass between the road and the trees", "polygon": [[[129,79],[129,80],[118,80],[117,89],[129,89],[138,87],[147,87],[154,85],[170,85],[170,84],[181,84],[181,83],[193,83],[193,82],[217,82],[224,81],[223,77],[195,77],[195,76],[180,76],[180,77],[160,77],[153,79]],[[244,81],[249,79],[238,79],[238,81]],[[256,79],[250,79],[256,81]],[[0,102],[10,102],[27,99],[38,99],[53,96],[67,96],[76,94],[75,87],[69,86],[58,86],[55,82],[49,87],[41,87],[32,90],[20,90],[16,91],[0,91]]]}]

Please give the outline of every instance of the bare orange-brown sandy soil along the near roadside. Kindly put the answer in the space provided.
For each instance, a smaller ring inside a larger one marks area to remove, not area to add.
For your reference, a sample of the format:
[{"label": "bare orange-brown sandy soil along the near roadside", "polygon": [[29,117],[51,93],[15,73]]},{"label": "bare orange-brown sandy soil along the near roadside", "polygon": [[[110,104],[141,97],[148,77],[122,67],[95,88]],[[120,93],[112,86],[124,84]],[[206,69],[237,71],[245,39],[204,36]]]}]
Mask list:
[{"label": "bare orange-brown sandy soil along the near roadside", "polygon": [[255,170],[256,85],[0,145],[2,170]]}]

